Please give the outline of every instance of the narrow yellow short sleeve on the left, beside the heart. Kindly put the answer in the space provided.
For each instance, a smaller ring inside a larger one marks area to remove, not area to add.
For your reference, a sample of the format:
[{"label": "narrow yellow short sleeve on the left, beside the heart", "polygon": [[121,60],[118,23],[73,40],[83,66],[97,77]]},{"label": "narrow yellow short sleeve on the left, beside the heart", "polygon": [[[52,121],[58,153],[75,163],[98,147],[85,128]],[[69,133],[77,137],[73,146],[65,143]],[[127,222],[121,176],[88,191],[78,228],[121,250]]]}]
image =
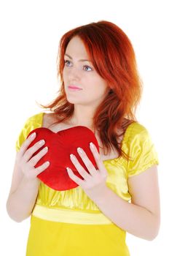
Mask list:
[{"label": "narrow yellow short sleeve on the left, beside the heart", "polygon": [[20,147],[22,146],[23,142],[26,140],[26,138],[28,137],[28,134],[33,129],[42,127],[42,114],[43,113],[38,113],[26,119],[22,129],[20,130],[20,134],[17,137],[17,141],[15,143],[16,151],[20,150]]}]

